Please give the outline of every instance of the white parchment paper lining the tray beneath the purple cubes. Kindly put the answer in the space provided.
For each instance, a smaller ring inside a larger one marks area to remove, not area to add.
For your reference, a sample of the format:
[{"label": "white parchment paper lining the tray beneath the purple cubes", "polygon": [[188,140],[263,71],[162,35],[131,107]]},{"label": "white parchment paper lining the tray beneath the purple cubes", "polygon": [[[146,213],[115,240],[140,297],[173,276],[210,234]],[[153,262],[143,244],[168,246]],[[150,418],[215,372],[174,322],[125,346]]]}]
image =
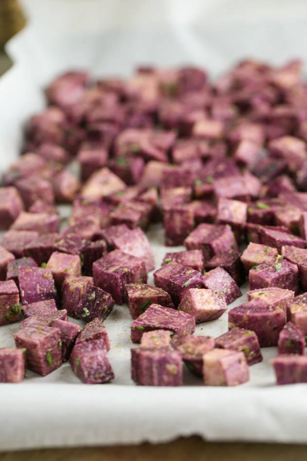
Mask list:
[{"label": "white parchment paper lining the tray beneath the purple cubes", "polygon": [[[15,65],[0,79],[0,170],[17,157],[25,120],[43,107],[41,89],[68,67],[127,76],[140,62],[198,63],[216,76],[242,56],[281,63],[307,53],[306,7],[297,0],[291,9],[283,1],[258,1],[254,10],[255,2],[246,0],[191,0],[189,8],[177,0],[77,0],[73,10],[67,0],[22,3],[31,21],[9,42]],[[156,268],[166,251],[181,248],[163,246],[161,225],[148,236]],[[246,295],[229,308],[244,301]],[[67,363],[44,378],[27,371],[22,383],[1,384],[0,450],[159,442],[191,434],[307,442],[307,386],[274,385],[269,359],[276,348],[263,349],[264,361],[250,367],[249,383],[236,388],[205,387],[188,372],[179,388],[138,387],[130,379],[131,321],[124,305],[115,306],[105,322],[115,371],[111,384],[81,384]],[[1,347],[14,344],[18,328],[0,328]],[[227,314],[196,328],[196,334],[212,336],[225,331]]]}]

